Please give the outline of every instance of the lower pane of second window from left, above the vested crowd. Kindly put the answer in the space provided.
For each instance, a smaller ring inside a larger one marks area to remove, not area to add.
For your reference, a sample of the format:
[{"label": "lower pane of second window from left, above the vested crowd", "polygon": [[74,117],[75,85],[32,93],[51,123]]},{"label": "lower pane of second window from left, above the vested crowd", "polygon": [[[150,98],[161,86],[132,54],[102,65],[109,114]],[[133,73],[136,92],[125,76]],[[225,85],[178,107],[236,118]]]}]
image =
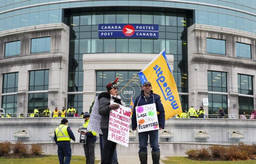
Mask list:
[{"label": "lower pane of second window from left, above the vested crowd", "polygon": [[[28,102],[28,113],[34,113],[34,109],[38,107],[39,113],[43,111],[48,106],[48,93],[30,93]],[[42,115],[43,116],[43,115]]]}]

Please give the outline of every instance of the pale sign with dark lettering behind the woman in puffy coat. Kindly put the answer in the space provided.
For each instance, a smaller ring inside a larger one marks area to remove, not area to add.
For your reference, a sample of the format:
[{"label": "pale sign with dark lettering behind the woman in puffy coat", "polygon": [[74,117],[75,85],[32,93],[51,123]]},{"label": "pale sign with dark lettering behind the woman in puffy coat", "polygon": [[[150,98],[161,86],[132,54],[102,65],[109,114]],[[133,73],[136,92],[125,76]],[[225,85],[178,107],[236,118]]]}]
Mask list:
[{"label": "pale sign with dark lettering behind the woman in puffy coat", "polygon": [[99,115],[99,102],[98,96],[96,97],[93,109],[91,110],[90,120],[87,126],[87,130],[102,134],[101,132],[101,115]]}]

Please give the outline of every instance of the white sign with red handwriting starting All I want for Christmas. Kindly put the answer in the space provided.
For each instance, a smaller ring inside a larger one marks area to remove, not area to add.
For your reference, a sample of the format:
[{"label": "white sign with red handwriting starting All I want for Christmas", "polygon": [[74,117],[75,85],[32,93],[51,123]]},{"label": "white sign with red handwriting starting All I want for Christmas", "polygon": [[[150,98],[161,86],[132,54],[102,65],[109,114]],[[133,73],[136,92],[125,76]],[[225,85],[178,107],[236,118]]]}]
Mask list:
[{"label": "white sign with red handwriting starting All I want for Christmas", "polygon": [[[116,104],[111,102],[111,104]],[[128,147],[131,109],[120,105],[110,111],[108,140]]]}]

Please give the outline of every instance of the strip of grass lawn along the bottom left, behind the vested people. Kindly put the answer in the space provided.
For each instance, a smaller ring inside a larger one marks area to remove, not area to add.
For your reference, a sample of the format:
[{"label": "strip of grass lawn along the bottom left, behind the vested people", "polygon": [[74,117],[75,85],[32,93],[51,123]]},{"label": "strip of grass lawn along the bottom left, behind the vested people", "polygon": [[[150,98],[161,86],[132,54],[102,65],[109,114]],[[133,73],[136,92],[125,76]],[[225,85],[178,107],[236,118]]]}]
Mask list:
[{"label": "strip of grass lawn along the bottom left, behind the vested people", "polygon": [[[71,164],[85,163],[84,156],[72,156]],[[95,161],[95,164],[99,161]],[[22,158],[22,159],[3,159],[0,158],[0,164],[59,164],[58,156],[46,156],[41,158]]]}]

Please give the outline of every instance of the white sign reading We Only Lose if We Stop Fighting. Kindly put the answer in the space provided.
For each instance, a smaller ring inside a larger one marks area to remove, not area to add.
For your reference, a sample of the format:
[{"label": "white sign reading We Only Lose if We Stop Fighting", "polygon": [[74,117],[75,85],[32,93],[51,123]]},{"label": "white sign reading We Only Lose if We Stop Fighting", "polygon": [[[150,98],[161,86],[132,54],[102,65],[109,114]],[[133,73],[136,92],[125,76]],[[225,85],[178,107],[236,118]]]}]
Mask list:
[{"label": "white sign reading We Only Lose if We Stop Fighting", "polygon": [[157,107],[155,104],[137,106],[135,109],[138,132],[146,132],[159,129]]}]

